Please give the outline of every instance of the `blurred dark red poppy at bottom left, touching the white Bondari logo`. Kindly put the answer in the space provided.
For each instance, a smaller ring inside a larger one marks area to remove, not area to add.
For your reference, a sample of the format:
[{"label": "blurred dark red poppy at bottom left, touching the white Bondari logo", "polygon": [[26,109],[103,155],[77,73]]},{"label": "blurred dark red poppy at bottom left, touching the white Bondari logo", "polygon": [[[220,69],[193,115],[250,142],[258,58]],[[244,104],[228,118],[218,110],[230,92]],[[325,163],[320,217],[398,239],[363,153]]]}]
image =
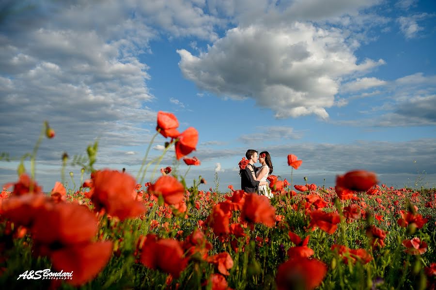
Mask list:
[{"label": "blurred dark red poppy at bottom left, touching the white Bondari logo", "polygon": [[91,281],[106,266],[112,256],[112,242],[77,244],[50,254],[53,268],[57,271],[73,272],[73,286]]}]

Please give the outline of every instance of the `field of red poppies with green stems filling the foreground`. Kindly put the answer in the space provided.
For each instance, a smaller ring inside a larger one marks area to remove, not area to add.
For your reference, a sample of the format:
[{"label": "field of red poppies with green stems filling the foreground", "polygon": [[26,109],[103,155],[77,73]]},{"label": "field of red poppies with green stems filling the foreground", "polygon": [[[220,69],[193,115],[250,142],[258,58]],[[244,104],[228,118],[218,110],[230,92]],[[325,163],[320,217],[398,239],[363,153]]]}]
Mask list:
[{"label": "field of red poppies with green stems filling the foreground", "polygon": [[[293,170],[304,160],[290,153],[283,156],[289,176],[268,177],[271,199],[239,184],[199,190],[207,183],[201,176],[179,175],[201,164],[188,156],[198,134],[193,127],[180,132],[173,114],[159,112],[150,145],[160,135],[165,150],[149,160],[149,147],[139,172],[94,168],[94,143],[86,158],[74,160],[80,187],[56,182],[45,193],[35,166],[42,140],[56,135],[46,122],[17,180],[0,194],[1,287],[436,288],[435,189],[388,187],[374,172],[354,168],[344,168],[335,187],[294,184]],[[159,170],[172,146],[184,162]],[[246,165],[242,158],[239,167]],[[152,178],[144,180],[148,170]]]}]

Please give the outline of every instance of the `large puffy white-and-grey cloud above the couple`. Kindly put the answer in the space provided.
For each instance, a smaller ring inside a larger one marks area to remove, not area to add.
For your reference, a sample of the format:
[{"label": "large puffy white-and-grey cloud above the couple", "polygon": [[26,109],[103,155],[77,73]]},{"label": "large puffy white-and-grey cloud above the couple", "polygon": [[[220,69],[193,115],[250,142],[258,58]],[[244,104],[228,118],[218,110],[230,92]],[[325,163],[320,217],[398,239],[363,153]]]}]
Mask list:
[{"label": "large puffy white-and-grey cloud above the couple", "polygon": [[341,76],[384,63],[357,63],[340,30],[300,22],[275,29],[234,28],[199,56],[177,52],[183,75],[200,89],[253,98],[276,118],[313,114],[327,119]]}]

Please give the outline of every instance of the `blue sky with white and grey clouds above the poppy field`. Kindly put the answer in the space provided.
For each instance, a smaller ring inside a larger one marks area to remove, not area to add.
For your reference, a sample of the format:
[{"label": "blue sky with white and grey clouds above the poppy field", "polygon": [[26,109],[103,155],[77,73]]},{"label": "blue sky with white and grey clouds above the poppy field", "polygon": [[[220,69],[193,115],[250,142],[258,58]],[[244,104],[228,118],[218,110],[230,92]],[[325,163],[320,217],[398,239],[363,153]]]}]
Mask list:
[{"label": "blue sky with white and grey clouds above the poppy field", "polygon": [[[201,175],[200,189],[240,188],[237,164],[256,149],[288,181],[287,155],[303,160],[294,184],[364,169],[435,187],[435,47],[433,0],[4,0],[0,183],[17,180],[45,120],[56,136],[36,155],[44,191],[64,152],[78,186],[71,161],[95,140],[96,168],[136,176],[167,111],[199,132],[188,186]],[[188,168],[173,150],[166,166]]]}]

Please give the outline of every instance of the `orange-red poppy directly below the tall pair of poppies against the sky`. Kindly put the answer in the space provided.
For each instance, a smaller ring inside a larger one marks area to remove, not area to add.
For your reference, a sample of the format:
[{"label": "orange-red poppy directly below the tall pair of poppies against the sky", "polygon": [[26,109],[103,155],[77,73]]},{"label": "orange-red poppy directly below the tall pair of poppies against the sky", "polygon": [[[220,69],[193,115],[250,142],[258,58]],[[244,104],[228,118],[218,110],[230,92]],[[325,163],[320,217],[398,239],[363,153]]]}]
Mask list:
[{"label": "orange-red poppy directly below the tall pair of poppies against the sky", "polygon": [[178,204],[185,197],[185,186],[172,176],[161,176],[148,187],[148,192],[156,197],[162,195],[168,204]]}]

